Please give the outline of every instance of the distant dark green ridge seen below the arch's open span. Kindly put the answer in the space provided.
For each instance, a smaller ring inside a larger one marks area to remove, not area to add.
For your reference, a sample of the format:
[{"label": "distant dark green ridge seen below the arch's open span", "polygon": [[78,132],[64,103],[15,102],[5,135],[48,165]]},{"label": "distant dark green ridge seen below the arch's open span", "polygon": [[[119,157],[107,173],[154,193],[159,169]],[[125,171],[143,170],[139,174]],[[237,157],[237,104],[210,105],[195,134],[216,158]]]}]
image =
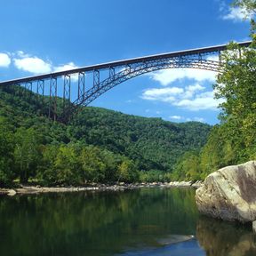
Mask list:
[{"label": "distant dark green ridge seen below the arch's open span", "polygon": [[72,140],[83,140],[140,162],[140,169],[172,171],[177,157],[202,148],[210,126],[175,124],[161,118],[128,116],[104,108],[84,108],[72,125]]}]

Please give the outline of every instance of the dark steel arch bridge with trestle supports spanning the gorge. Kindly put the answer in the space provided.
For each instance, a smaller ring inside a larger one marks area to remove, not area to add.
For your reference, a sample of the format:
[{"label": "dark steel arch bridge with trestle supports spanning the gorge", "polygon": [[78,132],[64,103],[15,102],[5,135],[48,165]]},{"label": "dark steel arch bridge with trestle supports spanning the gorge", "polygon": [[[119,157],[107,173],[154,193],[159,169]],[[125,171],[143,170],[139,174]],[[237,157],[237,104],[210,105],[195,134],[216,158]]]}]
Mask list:
[{"label": "dark steel arch bridge with trestle supports spanning the gorge", "polygon": [[[247,47],[251,41],[238,43]],[[45,88],[48,88],[49,117],[67,122],[69,116],[79,106],[88,106],[92,100],[107,92],[117,84],[124,83],[135,76],[165,68],[197,68],[218,72],[221,64],[221,52],[227,49],[227,44],[198,48],[180,52],[168,52],[129,60],[118,60],[84,68],[29,76],[20,79],[0,82],[0,86],[18,85],[42,95],[44,102]],[[211,55],[218,60],[211,60]],[[91,79],[89,78],[91,76]],[[87,81],[88,80],[88,81]],[[88,84],[88,86],[87,86]],[[36,86],[36,89],[35,89]],[[71,100],[72,91],[76,89],[77,97]],[[61,96],[58,94],[61,90]],[[63,99],[63,114],[56,116],[57,98]],[[73,104],[69,104],[73,103]]]}]

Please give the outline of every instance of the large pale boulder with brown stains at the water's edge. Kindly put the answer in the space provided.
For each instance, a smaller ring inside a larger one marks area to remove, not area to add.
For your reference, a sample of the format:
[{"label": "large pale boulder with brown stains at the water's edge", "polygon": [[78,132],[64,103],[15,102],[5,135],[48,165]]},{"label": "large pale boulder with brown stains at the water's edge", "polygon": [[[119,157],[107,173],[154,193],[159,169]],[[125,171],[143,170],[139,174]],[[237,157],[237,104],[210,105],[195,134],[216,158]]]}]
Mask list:
[{"label": "large pale boulder with brown stains at the water's edge", "polygon": [[222,220],[256,220],[256,161],[213,172],[196,190],[199,212]]}]

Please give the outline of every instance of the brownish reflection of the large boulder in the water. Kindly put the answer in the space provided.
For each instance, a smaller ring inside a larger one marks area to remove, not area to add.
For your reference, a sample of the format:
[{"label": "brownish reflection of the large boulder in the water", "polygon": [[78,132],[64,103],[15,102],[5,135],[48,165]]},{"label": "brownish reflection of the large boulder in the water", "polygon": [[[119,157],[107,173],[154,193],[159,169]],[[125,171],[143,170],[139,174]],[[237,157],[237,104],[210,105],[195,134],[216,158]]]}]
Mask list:
[{"label": "brownish reflection of the large boulder in the water", "polygon": [[255,256],[256,236],[251,227],[200,217],[196,236],[207,256]]}]

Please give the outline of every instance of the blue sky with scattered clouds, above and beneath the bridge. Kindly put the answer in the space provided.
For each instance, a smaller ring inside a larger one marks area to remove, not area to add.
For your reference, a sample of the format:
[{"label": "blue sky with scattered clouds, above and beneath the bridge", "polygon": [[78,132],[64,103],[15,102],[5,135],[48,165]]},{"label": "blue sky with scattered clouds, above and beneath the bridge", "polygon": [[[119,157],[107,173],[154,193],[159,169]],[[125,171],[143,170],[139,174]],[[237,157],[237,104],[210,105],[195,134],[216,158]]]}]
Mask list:
[{"label": "blue sky with scattered clouds, above and beneath the bridge", "polygon": [[[249,22],[229,4],[0,0],[0,80],[250,39]],[[214,77],[210,71],[166,69],[119,84],[91,106],[216,124]]]}]

